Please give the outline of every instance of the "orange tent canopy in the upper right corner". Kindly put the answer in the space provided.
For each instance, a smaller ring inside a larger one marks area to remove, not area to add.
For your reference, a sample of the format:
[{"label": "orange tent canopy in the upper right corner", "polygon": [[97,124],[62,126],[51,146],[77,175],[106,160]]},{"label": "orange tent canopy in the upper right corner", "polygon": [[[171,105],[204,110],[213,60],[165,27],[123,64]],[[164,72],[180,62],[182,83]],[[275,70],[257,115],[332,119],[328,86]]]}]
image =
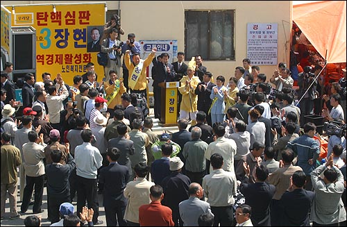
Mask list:
[{"label": "orange tent canopy in the upper right corner", "polygon": [[346,1],[294,5],[293,20],[328,63],[346,62]]}]

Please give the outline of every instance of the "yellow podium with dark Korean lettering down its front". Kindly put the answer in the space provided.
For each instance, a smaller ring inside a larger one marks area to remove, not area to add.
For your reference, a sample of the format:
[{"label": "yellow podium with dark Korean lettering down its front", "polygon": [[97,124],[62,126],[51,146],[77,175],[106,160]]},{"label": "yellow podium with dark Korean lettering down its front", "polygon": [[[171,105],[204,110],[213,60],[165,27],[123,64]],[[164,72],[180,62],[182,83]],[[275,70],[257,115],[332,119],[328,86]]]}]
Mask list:
[{"label": "yellow podium with dark Korean lettering down its front", "polygon": [[165,88],[162,87],[162,99],[160,103],[160,126],[177,126],[177,88],[180,82],[167,82]]}]

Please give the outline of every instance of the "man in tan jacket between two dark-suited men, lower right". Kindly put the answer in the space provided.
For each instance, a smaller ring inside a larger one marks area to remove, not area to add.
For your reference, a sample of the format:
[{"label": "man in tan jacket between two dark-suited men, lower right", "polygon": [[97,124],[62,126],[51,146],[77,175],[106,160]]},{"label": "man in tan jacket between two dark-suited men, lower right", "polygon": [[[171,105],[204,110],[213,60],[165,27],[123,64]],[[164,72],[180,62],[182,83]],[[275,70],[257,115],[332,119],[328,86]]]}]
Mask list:
[{"label": "man in tan jacket between two dark-suited men, lower right", "polygon": [[[294,160],[294,151],[291,149],[285,149],[281,153],[282,156],[282,168],[274,171],[268,178],[267,182],[271,185],[275,185],[276,193],[273,195],[271,201],[271,226],[280,226],[281,212],[280,199],[282,195],[289,188],[289,180],[296,171],[302,171],[301,167],[297,167],[291,164]],[[305,183],[305,181],[304,181]],[[288,226],[289,224],[285,225]]]}]

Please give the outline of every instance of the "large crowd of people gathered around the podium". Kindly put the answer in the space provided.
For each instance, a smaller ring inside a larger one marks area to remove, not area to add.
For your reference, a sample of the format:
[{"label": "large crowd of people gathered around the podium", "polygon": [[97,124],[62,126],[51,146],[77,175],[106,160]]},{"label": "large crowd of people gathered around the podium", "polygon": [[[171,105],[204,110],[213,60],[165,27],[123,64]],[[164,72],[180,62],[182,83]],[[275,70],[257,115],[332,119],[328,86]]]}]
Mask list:
[{"label": "large crowd of people gathered around the podium", "polygon": [[[61,74],[53,79],[45,72],[36,83],[26,74],[19,103],[6,62],[1,220],[8,193],[10,219],[26,214],[33,199],[24,224],[40,224],[35,215],[44,211],[46,187],[52,226],[103,224],[98,194],[107,226],[346,224],[346,128],[329,135],[325,149],[317,133],[322,126],[305,117],[321,108],[323,121],[345,123],[346,69],[322,107],[314,102],[321,65],[303,67],[298,90],[285,63],[266,78],[248,58],[229,80],[219,75],[214,83],[199,55],[185,64],[185,53],[178,52],[171,64],[154,47],[141,59],[135,34],[120,44],[124,31],[111,26],[112,19],[101,39],[108,53],[101,83],[92,62],[73,85]],[[139,104],[152,63],[155,118],[162,115],[164,82],[180,82],[178,132],[172,135],[153,133],[153,119]]]}]

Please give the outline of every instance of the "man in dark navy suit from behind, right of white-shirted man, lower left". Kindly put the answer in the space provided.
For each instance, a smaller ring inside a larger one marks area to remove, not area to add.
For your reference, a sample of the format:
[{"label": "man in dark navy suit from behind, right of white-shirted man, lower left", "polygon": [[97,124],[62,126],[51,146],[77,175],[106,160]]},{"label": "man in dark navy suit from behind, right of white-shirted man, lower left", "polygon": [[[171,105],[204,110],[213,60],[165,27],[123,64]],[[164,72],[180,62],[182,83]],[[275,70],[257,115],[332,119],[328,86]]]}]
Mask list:
[{"label": "man in dark navy suit from behind, right of white-shirted man, lower left", "polygon": [[126,226],[124,214],[128,200],[124,196],[124,189],[129,180],[129,169],[119,165],[117,160],[121,151],[116,147],[108,149],[107,158],[110,162],[108,167],[101,169],[99,176],[99,189],[103,191],[103,206],[107,226]]}]

